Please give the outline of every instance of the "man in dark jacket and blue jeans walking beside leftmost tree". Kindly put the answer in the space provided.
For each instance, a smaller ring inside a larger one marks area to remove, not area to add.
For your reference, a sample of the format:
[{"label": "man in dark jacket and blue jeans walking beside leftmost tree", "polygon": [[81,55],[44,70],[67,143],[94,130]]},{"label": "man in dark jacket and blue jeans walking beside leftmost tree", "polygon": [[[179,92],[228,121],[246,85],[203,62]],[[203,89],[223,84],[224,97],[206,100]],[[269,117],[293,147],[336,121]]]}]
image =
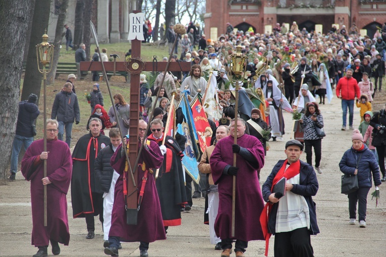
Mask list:
[{"label": "man in dark jacket and blue jeans walking beside leftmost tree", "polygon": [[40,113],[36,101],[37,95],[30,94],[28,100],[19,102],[16,135],[12,145],[10,180],[15,180],[16,172],[18,171],[18,157],[22,144],[24,144],[24,149],[27,150],[33,142],[33,136],[36,135],[35,125],[33,123]]}]

